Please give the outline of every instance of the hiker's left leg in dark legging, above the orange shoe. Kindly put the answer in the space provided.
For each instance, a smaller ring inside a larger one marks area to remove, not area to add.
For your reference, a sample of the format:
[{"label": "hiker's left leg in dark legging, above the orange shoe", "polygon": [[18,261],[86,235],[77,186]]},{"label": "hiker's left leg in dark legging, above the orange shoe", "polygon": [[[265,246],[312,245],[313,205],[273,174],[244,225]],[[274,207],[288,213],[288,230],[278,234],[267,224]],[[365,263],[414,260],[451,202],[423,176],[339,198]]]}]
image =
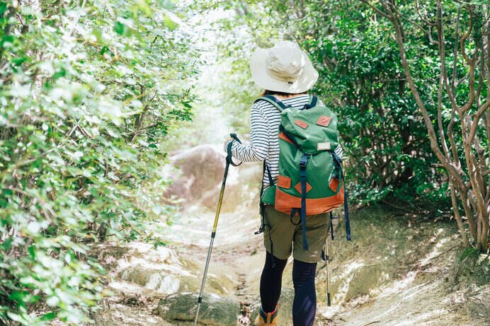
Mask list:
[{"label": "hiker's left leg in dark legging, above the orange shoe", "polygon": [[274,257],[275,266],[273,267],[272,255],[266,252],[266,264],[261,276],[261,304],[265,313],[272,313],[278,304],[280,289],[283,284],[283,271],[287,260],[280,260]]}]

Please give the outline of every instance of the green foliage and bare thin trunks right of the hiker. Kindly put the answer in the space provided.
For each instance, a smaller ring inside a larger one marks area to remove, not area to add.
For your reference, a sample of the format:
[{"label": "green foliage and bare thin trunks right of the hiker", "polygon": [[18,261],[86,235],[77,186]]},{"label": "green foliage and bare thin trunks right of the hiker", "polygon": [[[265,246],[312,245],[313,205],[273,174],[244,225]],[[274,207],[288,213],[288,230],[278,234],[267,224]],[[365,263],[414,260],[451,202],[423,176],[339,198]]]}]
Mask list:
[{"label": "green foliage and bare thin trunks right of the hiker", "polygon": [[229,0],[223,8],[234,15],[222,28],[245,35],[221,46],[238,58],[240,82],[244,49],[289,39],[309,52],[320,72],[313,91],[341,116],[351,199],[452,204],[464,245],[469,226],[487,250],[488,4]]}]

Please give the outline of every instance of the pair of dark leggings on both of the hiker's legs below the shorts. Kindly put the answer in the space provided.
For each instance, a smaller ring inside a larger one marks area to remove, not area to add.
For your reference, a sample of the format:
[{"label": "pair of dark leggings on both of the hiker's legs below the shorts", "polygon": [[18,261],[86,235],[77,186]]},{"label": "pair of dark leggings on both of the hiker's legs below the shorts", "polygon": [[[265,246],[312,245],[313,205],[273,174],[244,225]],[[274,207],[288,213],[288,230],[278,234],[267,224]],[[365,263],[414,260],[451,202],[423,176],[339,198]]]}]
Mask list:
[{"label": "pair of dark leggings on both of the hiker's legs below the shorts", "polygon": [[[261,276],[261,304],[262,310],[272,313],[280,297],[283,282],[283,271],[287,260],[266,254],[266,264]],[[292,283],[295,286],[295,300],[292,303],[293,325],[311,326],[317,313],[317,293],[315,292],[315,272],[317,263],[300,262],[294,260],[292,264]]]}]

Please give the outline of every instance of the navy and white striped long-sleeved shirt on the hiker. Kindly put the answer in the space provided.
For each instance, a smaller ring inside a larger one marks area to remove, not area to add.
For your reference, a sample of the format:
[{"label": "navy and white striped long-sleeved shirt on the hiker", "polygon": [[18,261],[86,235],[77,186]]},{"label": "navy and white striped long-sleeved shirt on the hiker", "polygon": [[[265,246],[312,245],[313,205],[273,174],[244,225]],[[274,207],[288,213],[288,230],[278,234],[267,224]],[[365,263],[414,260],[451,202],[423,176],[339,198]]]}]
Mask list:
[{"label": "navy and white striped long-sleeved shirt on the hiker", "polygon": [[[284,105],[291,105],[302,109],[309,101],[309,95],[300,95],[295,98],[281,100]],[[319,105],[323,105],[319,101]],[[272,179],[279,175],[279,138],[280,111],[265,100],[254,103],[250,112],[250,144],[239,144],[234,141],[232,156],[242,162],[256,162],[266,160]],[[335,149],[339,158],[343,151],[340,145]],[[268,171],[263,175],[263,185],[269,185]]]}]

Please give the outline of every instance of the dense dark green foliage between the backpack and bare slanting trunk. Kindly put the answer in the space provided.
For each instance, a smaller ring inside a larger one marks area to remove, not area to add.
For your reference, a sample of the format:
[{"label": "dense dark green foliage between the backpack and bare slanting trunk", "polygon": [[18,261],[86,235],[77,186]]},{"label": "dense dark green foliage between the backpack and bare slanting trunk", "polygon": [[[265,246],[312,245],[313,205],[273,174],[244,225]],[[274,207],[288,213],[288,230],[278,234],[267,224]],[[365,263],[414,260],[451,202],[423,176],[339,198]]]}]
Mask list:
[{"label": "dense dark green foliage between the backpack and bare slanting trunk", "polygon": [[[339,129],[350,176],[361,190],[352,198],[377,202],[392,194],[411,201],[430,194],[439,171],[428,169],[435,160],[387,23],[362,6],[354,4],[353,11],[346,6],[346,1],[310,6],[303,33],[321,74],[316,90],[343,117]],[[312,28],[321,20],[326,28]],[[417,53],[424,55],[422,49]],[[418,69],[431,74],[431,66]],[[431,87],[426,83],[427,91]]]}]

